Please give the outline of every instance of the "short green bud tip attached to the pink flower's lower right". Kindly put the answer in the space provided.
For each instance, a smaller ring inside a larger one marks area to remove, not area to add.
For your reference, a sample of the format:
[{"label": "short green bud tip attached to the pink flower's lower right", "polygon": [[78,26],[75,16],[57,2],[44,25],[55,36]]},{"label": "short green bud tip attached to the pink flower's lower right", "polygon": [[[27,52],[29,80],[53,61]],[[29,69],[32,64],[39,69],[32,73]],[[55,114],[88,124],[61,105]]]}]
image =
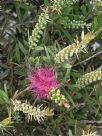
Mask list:
[{"label": "short green bud tip attached to the pink flower's lower right", "polygon": [[63,94],[61,94],[59,89],[52,89],[50,91],[49,98],[52,101],[54,101],[56,104],[58,104],[59,106],[64,106],[66,108],[70,107],[67,99],[65,98]]}]

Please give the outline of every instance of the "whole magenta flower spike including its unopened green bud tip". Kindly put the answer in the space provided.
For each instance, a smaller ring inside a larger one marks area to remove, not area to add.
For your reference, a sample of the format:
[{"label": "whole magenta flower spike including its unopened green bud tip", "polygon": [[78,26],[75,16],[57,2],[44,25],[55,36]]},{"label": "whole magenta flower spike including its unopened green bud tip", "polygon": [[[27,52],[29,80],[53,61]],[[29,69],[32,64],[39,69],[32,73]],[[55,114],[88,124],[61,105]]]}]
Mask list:
[{"label": "whole magenta flower spike including its unopened green bud tip", "polygon": [[67,99],[58,89],[58,81],[52,68],[41,67],[32,70],[29,81],[29,88],[38,98],[49,98],[59,106],[70,107]]}]

